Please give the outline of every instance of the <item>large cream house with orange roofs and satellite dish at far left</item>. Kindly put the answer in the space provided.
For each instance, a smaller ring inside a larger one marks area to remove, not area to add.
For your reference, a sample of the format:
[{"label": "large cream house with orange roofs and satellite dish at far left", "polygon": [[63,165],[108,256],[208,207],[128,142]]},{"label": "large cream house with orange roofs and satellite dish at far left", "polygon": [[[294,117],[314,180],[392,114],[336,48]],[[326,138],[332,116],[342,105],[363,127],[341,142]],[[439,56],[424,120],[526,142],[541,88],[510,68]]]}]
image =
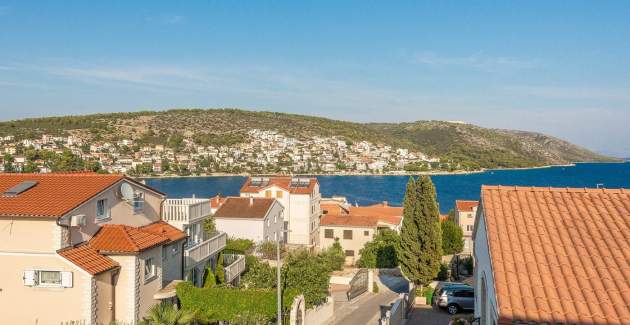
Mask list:
[{"label": "large cream house with orange roofs and satellite dish at far left", "polygon": [[186,234],[160,221],[155,189],[123,175],[1,174],[0,193],[2,323],[134,323],[182,276]]}]

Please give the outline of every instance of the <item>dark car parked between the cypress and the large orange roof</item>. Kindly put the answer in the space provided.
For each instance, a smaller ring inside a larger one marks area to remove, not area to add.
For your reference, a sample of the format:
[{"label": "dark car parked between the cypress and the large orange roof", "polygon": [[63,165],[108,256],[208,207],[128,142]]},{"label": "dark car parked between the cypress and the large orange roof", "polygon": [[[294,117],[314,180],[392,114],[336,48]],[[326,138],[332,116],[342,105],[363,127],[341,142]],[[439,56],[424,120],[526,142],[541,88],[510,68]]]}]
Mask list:
[{"label": "dark car parked between the cypress and the large orange roof", "polygon": [[433,294],[434,306],[445,308],[451,315],[463,310],[475,309],[475,289],[467,284],[440,283]]}]

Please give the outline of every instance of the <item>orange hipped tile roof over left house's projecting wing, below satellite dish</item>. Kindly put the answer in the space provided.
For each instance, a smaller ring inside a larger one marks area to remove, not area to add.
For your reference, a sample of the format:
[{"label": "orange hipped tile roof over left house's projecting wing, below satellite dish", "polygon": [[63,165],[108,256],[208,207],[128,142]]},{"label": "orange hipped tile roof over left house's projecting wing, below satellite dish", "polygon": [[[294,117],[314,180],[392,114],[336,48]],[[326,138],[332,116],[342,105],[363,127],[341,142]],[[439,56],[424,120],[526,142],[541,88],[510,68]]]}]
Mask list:
[{"label": "orange hipped tile roof over left house's projecting wing, below satellite dish", "polygon": [[169,241],[165,234],[126,225],[106,224],[90,239],[90,246],[104,252],[137,253]]}]

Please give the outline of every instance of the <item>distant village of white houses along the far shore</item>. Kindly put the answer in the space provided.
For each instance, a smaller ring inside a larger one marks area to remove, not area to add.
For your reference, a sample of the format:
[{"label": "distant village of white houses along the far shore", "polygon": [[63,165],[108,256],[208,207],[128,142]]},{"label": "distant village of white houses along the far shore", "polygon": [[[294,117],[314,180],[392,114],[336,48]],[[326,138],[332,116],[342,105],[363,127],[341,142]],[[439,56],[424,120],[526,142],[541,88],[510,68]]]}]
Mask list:
[{"label": "distant village of white houses along the far shore", "polygon": [[222,146],[199,145],[184,137],[169,139],[167,145],[140,145],[132,139],[112,143],[43,135],[39,139],[18,140],[9,135],[0,138],[0,152],[0,172],[47,173],[82,170],[86,165],[94,171],[132,176],[381,174],[463,168],[422,152],[368,141],[353,143],[338,137],[298,140],[257,129],[250,130],[243,142]]}]

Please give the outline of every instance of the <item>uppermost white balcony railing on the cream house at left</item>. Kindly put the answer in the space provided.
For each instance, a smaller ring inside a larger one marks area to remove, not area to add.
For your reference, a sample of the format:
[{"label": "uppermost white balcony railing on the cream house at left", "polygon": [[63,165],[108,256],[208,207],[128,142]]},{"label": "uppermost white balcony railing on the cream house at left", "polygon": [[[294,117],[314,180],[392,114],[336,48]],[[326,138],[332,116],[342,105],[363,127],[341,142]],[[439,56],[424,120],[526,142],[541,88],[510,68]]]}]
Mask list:
[{"label": "uppermost white balcony railing on the cream house at left", "polygon": [[208,199],[167,199],[162,209],[162,219],[169,223],[191,224],[211,214]]}]

